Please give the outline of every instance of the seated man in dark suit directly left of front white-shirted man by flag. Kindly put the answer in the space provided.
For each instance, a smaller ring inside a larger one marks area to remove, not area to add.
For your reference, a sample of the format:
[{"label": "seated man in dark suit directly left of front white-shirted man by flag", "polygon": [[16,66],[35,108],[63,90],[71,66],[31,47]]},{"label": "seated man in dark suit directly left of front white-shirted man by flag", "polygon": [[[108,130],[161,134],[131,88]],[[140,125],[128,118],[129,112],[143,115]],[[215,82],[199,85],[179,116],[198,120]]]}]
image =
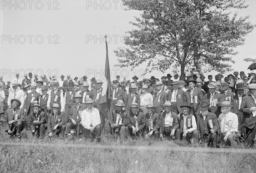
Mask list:
[{"label": "seated man in dark suit directly left of front white-shirted man by flag", "polygon": [[71,129],[77,130],[77,136],[79,136],[79,122],[81,122],[82,111],[86,108],[86,105],[82,103],[82,96],[77,94],[74,96],[75,103],[71,106],[68,115],[68,123],[66,125],[65,135],[70,135]]}]

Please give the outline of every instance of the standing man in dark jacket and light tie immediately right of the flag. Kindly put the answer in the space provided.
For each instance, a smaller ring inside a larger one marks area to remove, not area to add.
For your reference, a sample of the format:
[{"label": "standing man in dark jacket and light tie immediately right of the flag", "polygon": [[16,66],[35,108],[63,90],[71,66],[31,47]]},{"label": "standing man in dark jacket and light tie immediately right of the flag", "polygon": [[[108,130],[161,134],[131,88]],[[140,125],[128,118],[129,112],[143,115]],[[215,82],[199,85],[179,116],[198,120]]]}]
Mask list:
[{"label": "standing man in dark jacket and light tie immediately right of the flag", "polygon": [[116,103],[117,100],[122,100],[123,102],[126,102],[125,98],[125,91],[119,88],[119,82],[118,80],[113,80],[113,91],[111,94],[111,108],[112,110],[116,110]]}]

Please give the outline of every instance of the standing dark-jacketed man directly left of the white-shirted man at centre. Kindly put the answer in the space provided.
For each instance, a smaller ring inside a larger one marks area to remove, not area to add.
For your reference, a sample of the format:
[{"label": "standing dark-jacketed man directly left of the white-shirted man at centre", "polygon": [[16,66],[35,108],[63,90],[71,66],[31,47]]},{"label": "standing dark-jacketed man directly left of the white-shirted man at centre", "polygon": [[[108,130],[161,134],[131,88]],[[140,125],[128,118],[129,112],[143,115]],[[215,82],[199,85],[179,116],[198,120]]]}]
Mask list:
[{"label": "standing dark-jacketed man directly left of the white-shirted man at centre", "polygon": [[126,112],[127,113],[130,113],[131,111],[131,103],[132,102],[136,102],[138,103],[138,105],[140,105],[140,94],[137,94],[136,91],[137,91],[137,86],[135,83],[131,83],[131,93],[127,94],[126,96]]}]

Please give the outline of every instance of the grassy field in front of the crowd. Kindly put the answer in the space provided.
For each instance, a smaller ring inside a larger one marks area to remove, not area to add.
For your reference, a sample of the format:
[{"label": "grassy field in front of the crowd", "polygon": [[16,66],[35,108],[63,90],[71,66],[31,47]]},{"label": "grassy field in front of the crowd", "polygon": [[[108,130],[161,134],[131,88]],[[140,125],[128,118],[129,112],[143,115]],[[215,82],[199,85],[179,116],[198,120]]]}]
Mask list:
[{"label": "grassy field in front of the crowd", "polygon": [[[3,128],[1,128],[3,132]],[[242,148],[242,146],[240,146]],[[70,136],[21,141],[0,138],[0,173],[234,173],[256,172],[255,149],[179,147],[169,140],[113,140],[110,128],[100,143]]]}]

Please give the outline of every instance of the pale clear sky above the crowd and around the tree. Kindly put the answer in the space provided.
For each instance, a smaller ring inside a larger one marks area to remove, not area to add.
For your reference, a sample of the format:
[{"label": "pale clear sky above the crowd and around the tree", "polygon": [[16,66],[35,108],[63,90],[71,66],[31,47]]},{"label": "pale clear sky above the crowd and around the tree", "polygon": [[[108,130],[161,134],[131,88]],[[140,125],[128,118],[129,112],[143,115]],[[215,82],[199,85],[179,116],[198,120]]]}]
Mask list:
[{"label": "pale clear sky above the crowd and around the tree", "polygon": [[[134,28],[129,22],[139,17],[140,11],[125,10],[119,0],[72,1],[7,1],[1,0],[0,10],[0,76],[11,81],[16,73],[21,77],[32,72],[71,78],[86,75],[89,79],[104,78],[108,36],[108,55],[111,80],[116,75],[131,79],[172,74],[172,68],[162,73],[153,71],[143,76],[145,64],[133,69],[114,67],[118,63],[113,52],[125,47],[123,37]],[[231,9],[240,16],[250,15],[248,21],[256,24],[256,1],[246,0],[247,9]],[[249,73],[251,62],[245,58],[256,57],[256,30],[247,35],[244,45],[235,48],[233,69]],[[233,71],[232,71],[233,72]],[[207,75],[207,74],[205,74]],[[66,79],[66,78],[65,78]]]}]

